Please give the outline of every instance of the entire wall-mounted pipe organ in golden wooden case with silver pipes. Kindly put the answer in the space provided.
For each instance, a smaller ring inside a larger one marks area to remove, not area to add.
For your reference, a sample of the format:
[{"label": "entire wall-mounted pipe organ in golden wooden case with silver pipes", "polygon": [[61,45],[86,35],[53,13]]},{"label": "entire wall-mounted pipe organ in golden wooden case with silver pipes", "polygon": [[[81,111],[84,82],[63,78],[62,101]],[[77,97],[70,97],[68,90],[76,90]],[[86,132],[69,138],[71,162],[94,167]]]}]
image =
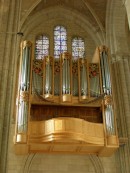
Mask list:
[{"label": "entire wall-mounted pipe organ in golden wooden case with silver pipes", "polygon": [[90,63],[65,52],[32,59],[32,43],[22,42],[16,154],[111,156],[119,147],[108,49],[98,47],[95,57]]}]

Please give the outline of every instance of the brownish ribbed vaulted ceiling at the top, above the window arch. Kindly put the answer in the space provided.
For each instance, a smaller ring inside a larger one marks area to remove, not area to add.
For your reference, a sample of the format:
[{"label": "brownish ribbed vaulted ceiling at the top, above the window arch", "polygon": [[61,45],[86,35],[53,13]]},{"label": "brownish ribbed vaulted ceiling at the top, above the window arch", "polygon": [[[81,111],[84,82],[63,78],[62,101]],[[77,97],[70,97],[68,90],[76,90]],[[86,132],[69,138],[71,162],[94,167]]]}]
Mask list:
[{"label": "brownish ribbed vaulted ceiling at the top, above the window arch", "polygon": [[99,25],[105,30],[106,6],[107,0],[26,0],[22,1],[21,16],[29,9],[33,9],[30,15],[56,6],[62,6],[71,11],[75,11],[79,15],[84,15],[94,27]]}]

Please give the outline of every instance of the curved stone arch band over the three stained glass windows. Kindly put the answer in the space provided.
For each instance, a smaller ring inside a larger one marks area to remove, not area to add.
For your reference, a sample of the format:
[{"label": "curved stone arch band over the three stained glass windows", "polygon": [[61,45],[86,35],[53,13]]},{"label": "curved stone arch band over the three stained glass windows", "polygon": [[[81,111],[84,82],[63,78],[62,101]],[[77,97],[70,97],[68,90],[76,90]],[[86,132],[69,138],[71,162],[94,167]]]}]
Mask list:
[{"label": "curved stone arch band over the three stained glass windows", "polygon": [[29,31],[32,28],[36,27],[39,23],[41,23],[41,19],[42,21],[45,21],[46,19],[52,20],[54,16],[55,20],[56,18],[58,19],[60,16],[60,18],[75,21],[77,25],[83,27],[91,35],[97,45],[104,44],[104,33],[102,33],[101,30],[97,31],[96,27],[90,23],[89,18],[86,18],[86,16],[77,13],[74,10],[71,11],[70,9],[67,9],[63,6],[56,6],[53,8],[50,7],[43,11],[37,12],[35,15],[27,16],[20,30],[24,32],[25,35],[28,35]]}]

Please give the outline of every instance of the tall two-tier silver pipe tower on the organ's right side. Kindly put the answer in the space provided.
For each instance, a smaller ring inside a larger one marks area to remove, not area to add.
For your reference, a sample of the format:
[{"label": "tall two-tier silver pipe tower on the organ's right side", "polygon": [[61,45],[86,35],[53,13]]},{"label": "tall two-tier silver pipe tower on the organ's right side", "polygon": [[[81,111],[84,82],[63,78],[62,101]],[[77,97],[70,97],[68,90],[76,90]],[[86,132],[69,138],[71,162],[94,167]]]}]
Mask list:
[{"label": "tall two-tier silver pipe tower on the organ's right side", "polygon": [[100,68],[102,77],[102,88],[105,94],[105,121],[106,121],[106,131],[108,135],[115,135],[115,122],[113,114],[113,103],[111,95],[111,81],[110,81],[110,69],[109,69],[109,59],[108,53],[105,46],[100,49]]}]

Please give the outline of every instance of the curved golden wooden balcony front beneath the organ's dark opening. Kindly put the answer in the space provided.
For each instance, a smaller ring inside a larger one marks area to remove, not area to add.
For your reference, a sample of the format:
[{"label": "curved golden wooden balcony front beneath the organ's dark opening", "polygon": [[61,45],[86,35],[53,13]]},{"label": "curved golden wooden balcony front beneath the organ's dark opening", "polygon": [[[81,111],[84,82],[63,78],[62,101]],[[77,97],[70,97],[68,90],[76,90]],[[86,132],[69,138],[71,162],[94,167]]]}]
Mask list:
[{"label": "curved golden wooden balcony front beneath the organ's dark opening", "polygon": [[63,142],[104,145],[103,124],[78,118],[29,122],[29,143]]}]

